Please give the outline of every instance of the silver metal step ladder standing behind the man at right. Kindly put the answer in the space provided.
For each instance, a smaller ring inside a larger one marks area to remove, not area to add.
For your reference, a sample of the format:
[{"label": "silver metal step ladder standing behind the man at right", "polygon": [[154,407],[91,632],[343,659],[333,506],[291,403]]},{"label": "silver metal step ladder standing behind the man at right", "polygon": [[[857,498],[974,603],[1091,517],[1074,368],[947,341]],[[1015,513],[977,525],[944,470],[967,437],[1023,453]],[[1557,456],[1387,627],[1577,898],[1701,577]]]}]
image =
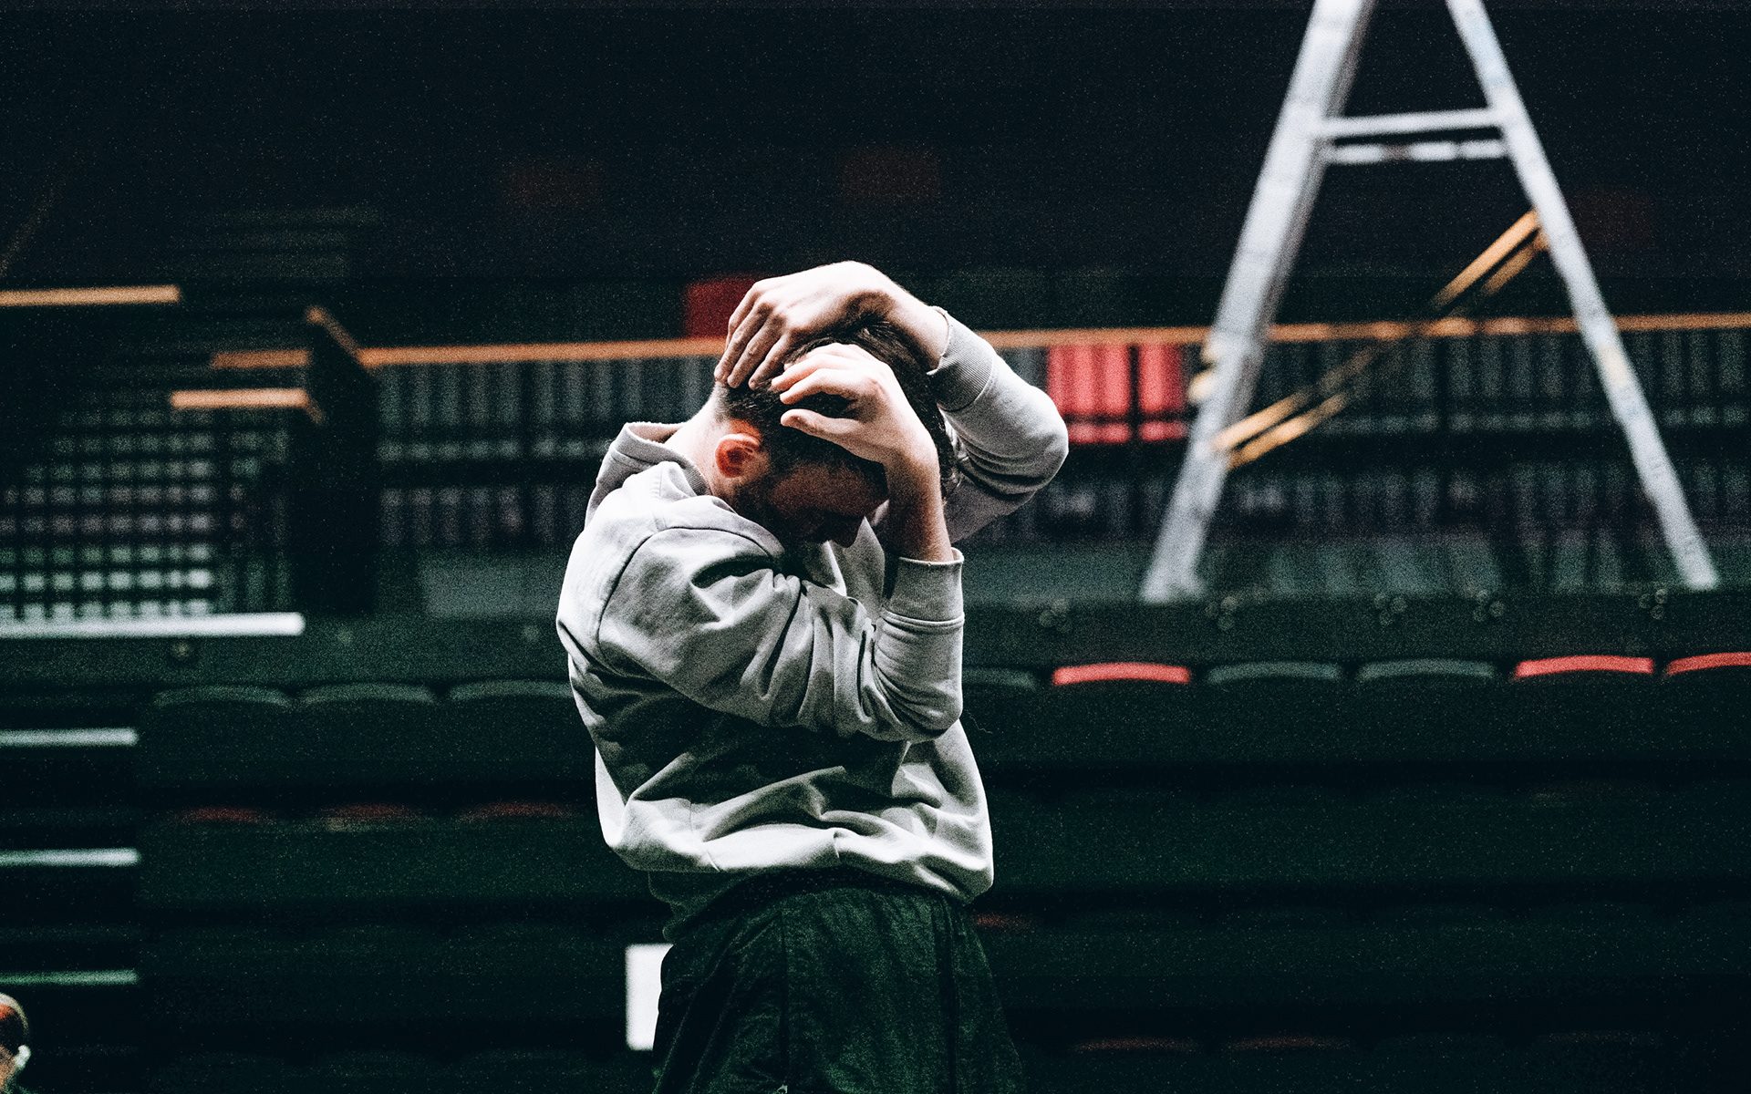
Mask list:
[{"label": "silver metal step ladder standing behind the man at right", "polygon": [[[1532,201],[1557,273],[1567,287],[1581,340],[1599,369],[1611,413],[1628,439],[1635,474],[1658,515],[1679,578],[1688,588],[1718,585],[1714,562],[1684,502],[1672,460],[1648,411],[1648,399],[1630,369],[1616,322],[1599,294],[1593,268],[1483,4],[1446,0],[1446,7],[1471,56],[1487,105],[1473,110],[1343,117],[1375,0],[1315,0],[1289,81],[1289,96],[1276,116],[1276,131],[1222,287],[1215,326],[1205,343],[1203,357],[1212,366],[1212,382],[1192,424],[1185,462],[1143,574],[1142,600],[1166,602],[1203,592],[1196,578],[1198,560],[1231,459],[1229,443],[1220,434],[1247,411],[1252,399],[1269,324],[1301,247],[1326,165],[1499,158],[1513,163],[1520,186]],[[1494,135],[1476,137],[1480,130]],[[1473,135],[1464,137],[1466,133]],[[1448,137],[1417,140],[1424,135]],[[1336,144],[1355,137],[1387,140]]]}]

